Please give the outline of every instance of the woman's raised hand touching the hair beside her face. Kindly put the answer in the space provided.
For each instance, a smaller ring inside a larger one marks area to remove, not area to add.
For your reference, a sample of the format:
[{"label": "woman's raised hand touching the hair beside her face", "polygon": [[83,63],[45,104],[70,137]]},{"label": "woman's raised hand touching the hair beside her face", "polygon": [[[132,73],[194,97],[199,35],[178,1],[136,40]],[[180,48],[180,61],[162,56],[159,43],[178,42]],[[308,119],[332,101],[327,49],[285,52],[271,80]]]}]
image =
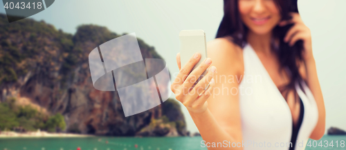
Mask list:
[{"label": "woman's raised hand touching the hair beside her face", "polygon": [[312,44],[311,44],[311,32],[310,29],[305,25],[300,18],[300,14],[297,12],[291,13],[292,19],[289,21],[282,21],[279,23],[280,26],[294,23],[294,25],[289,29],[284,37],[284,42],[289,43],[290,46],[293,46],[298,40],[304,42],[304,51],[303,58],[305,61],[313,58],[312,54]]}]

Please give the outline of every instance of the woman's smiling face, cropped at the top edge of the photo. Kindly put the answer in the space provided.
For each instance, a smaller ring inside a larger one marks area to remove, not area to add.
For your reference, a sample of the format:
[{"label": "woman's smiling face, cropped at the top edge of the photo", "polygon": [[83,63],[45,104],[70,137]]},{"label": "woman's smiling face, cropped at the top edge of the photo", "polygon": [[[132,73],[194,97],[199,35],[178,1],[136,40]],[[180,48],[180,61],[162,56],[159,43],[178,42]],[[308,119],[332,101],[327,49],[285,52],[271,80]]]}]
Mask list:
[{"label": "woman's smiling face, cropped at the top edge of the photo", "polygon": [[255,34],[268,34],[281,19],[274,0],[239,0],[244,24]]}]

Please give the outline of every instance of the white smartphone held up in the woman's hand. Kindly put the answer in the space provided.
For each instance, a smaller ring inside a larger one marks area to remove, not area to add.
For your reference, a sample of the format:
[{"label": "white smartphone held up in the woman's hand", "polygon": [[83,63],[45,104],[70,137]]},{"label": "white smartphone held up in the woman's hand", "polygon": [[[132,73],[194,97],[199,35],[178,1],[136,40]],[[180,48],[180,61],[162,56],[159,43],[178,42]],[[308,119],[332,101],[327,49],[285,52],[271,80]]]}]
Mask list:
[{"label": "white smartphone held up in the woman's hand", "polygon": [[[198,67],[199,64],[207,58],[206,33],[203,30],[182,30],[179,33],[179,40],[181,67],[188,63],[189,59],[196,52],[201,54],[201,58],[199,59],[199,62],[194,65],[193,69]],[[201,77],[205,75],[206,71],[203,72]]]}]

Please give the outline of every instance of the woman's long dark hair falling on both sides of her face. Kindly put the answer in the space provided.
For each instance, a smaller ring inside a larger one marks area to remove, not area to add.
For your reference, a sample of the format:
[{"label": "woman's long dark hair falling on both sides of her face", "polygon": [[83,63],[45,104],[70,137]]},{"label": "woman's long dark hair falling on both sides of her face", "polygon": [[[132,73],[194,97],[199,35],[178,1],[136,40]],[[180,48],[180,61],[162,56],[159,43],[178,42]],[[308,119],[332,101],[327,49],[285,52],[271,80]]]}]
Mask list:
[{"label": "woman's long dark hair falling on both sides of her face", "polygon": [[[291,19],[289,12],[298,12],[297,0],[275,0],[275,4],[280,9],[282,21]],[[285,98],[291,90],[295,92],[295,82],[302,81],[297,62],[304,61],[302,59],[303,43],[301,40],[297,41],[292,47],[284,42],[284,36],[292,26],[293,24],[284,27],[275,26],[271,39],[271,50],[277,54],[280,71],[287,69],[289,75],[289,83],[279,87]],[[224,37],[240,47],[244,47],[247,33],[248,28],[240,18],[238,0],[224,0],[224,17],[219,25],[219,30],[217,30],[216,38]]]}]

